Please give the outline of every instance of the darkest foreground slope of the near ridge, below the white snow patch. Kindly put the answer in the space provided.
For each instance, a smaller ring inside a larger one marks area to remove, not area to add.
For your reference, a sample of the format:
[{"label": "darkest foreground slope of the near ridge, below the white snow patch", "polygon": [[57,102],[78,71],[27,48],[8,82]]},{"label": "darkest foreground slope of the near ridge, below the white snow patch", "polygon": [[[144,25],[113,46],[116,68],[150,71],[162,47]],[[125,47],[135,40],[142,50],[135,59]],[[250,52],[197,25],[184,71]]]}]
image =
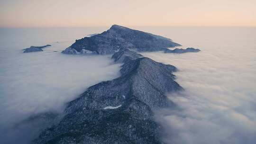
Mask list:
[{"label": "darkest foreground slope of the near ridge, below the white snow patch", "polygon": [[77,110],[41,134],[39,144],[161,144],[152,110],[130,96],[115,109]]}]

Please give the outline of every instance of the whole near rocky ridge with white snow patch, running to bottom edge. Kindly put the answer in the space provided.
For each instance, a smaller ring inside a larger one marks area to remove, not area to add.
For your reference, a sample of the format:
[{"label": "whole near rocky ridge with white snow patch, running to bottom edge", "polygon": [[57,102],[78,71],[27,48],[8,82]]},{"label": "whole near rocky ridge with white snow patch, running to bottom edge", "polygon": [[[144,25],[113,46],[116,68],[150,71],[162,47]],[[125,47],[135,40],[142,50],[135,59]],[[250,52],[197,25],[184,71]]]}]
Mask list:
[{"label": "whole near rocky ridge with white snow patch, running to bottom edge", "polygon": [[93,85],[69,102],[60,123],[41,133],[36,144],[163,144],[152,109],[174,107],[164,93],[182,90],[172,74],[176,68],[135,59],[141,55],[129,50],[114,55],[116,62],[131,57],[121,61],[121,76]]}]

